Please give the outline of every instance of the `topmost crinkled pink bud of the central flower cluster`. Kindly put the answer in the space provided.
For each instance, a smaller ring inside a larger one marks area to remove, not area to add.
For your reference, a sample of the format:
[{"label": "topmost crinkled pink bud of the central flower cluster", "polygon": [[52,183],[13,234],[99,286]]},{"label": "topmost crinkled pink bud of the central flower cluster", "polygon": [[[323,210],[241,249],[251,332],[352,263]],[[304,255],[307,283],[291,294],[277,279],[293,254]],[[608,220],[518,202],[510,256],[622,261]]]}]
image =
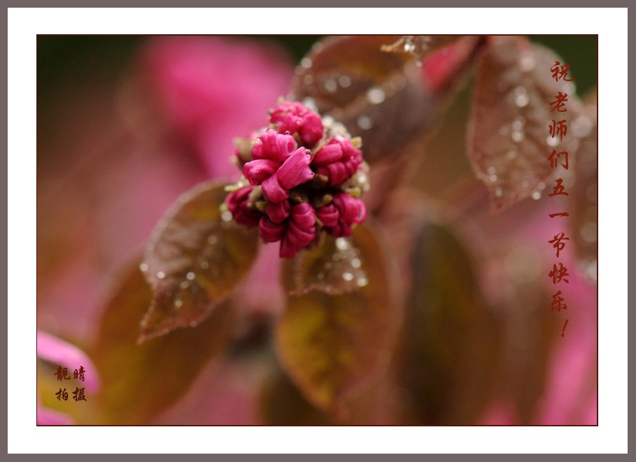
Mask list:
[{"label": "topmost crinkled pink bud of the central flower cluster", "polygon": [[287,101],[276,106],[269,117],[278,133],[297,133],[305,145],[312,146],[323,138],[323,121],[320,116],[302,103]]}]

